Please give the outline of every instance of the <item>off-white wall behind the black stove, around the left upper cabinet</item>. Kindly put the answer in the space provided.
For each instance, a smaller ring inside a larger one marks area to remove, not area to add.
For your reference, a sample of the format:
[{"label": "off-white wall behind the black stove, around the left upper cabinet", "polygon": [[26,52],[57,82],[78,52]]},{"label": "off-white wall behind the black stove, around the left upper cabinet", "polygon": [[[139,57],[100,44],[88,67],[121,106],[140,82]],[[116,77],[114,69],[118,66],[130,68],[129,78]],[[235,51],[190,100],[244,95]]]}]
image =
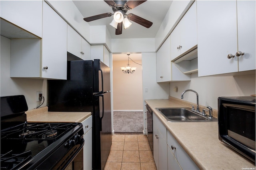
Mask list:
[{"label": "off-white wall behind the black stove, around the left upper cabinet", "polygon": [[39,105],[39,102],[36,102],[36,92],[42,92],[45,98],[45,102],[42,106],[46,106],[46,80],[10,78],[10,48],[11,40],[1,36],[0,96],[24,95],[28,104],[28,109],[34,109]]}]

